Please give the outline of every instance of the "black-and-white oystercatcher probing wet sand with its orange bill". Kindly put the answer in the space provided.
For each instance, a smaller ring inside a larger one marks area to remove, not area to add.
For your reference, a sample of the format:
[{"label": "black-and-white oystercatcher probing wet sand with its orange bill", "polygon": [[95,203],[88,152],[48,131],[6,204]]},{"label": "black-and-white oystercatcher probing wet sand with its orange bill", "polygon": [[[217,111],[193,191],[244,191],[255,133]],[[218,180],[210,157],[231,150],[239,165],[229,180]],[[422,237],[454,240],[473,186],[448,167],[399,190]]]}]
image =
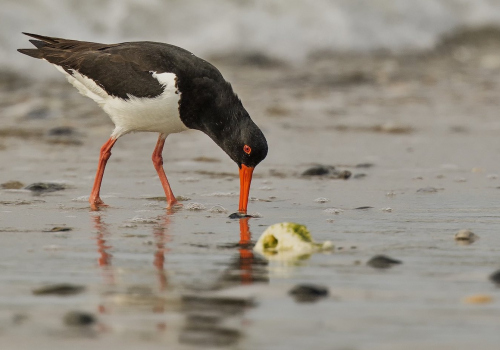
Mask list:
[{"label": "black-and-white oystercatcher probing wet sand with its orange bill", "polygon": [[115,124],[101,147],[92,209],[105,206],[99,192],[111,148],[133,131],[158,132],[153,164],[167,197],[177,205],[163,170],[165,138],[196,129],[207,134],[240,168],[240,213],[246,213],[252,173],[267,155],[267,141],[217,68],[180,47],[150,42],[99,44],[23,33],[34,49],[18,51],[52,63]]}]

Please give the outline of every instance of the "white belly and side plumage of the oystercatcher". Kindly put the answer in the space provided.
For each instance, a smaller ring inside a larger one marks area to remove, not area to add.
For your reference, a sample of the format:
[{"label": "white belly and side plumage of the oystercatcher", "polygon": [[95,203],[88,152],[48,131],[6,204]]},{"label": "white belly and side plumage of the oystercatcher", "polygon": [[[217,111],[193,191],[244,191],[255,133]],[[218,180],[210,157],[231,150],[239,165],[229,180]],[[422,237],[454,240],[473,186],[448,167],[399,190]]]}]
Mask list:
[{"label": "white belly and side plumage of the oystercatcher", "polygon": [[112,137],[118,138],[132,131],[152,131],[168,135],[188,129],[179,116],[181,95],[175,86],[177,77],[174,73],[151,72],[164,87],[161,95],[154,98],[129,95],[129,99],[124,100],[108,95],[92,79],[77,71],[69,74],[60,66],[54,66],[66,75],[82,95],[97,102],[111,117],[115,124]]}]

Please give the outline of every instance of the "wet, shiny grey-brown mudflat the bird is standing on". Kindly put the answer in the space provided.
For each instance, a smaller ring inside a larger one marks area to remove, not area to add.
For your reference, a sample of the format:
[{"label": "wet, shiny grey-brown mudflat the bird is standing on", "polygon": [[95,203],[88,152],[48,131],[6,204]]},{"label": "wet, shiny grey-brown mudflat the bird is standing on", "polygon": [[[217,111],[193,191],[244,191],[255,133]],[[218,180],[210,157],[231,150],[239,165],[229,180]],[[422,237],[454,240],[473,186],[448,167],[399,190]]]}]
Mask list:
[{"label": "wet, shiny grey-brown mudflat the bird is standing on", "polygon": [[[237,166],[195,131],[164,151],[182,209],[164,209],[156,135],[134,134],[108,163],[109,207],[90,211],[108,118],[62,78],[2,75],[1,347],[497,349],[500,62],[466,44],[219,62],[269,142],[250,219],[228,218]],[[318,164],[351,176],[301,175]],[[334,250],[253,252],[285,221]],[[380,255],[400,263],[367,264]]]}]

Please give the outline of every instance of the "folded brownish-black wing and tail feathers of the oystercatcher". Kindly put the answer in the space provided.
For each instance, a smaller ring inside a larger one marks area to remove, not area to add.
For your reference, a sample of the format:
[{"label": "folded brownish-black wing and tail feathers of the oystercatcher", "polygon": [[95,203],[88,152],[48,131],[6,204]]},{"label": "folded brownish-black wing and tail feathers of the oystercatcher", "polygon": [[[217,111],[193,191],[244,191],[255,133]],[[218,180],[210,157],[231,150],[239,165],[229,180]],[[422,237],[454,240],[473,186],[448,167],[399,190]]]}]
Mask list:
[{"label": "folded brownish-black wing and tail feathers of the oystercatcher", "polygon": [[155,42],[100,44],[24,33],[36,49],[19,49],[31,57],[45,59],[72,74],[92,79],[111,96],[128,99],[156,97],[164,87],[152,76],[175,73],[178,79],[207,77],[219,81],[220,72],[208,62],[174,45]]}]

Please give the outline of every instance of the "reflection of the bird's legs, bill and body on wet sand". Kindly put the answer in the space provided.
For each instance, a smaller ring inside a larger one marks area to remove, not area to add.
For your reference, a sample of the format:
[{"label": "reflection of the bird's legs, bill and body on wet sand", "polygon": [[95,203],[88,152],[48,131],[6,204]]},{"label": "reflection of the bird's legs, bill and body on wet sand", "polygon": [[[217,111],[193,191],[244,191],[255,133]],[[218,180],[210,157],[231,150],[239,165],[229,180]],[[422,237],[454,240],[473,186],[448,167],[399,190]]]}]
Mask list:
[{"label": "reflection of the bird's legs, bill and body on wet sand", "polygon": [[[185,321],[178,326],[167,327],[166,321],[158,321],[155,316],[155,332],[166,332],[177,329],[179,342],[195,346],[228,346],[237,344],[242,337],[242,324],[244,313],[254,305],[252,299],[242,297],[221,297],[217,290],[226,289],[236,285],[249,285],[256,282],[268,282],[266,261],[254,255],[252,248],[252,237],[249,227],[249,218],[239,219],[240,239],[238,244],[232,244],[231,248],[237,250],[235,256],[229,262],[229,267],[216,280],[210,291],[186,293],[180,298],[172,297],[173,286],[169,286],[168,268],[166,268],[166,256],[168,256],[168,242],[171,241],[169,228],[173,214],[167,212],[160,222],[153,226],[154,251],[153,266],[157,272],[157,286],[135,286],[125,292],[111,293],[111,299],[105,298],[105,302],[99,305],[102,314],[116,314],[153,312],[169,313],[181,312],[185,314]],[[93,217],[93,225],[96,230],[96,242],[98,252],[98,264],[103,271],[104,283],[116,290],[120,290],[116,282],[114,269],[111,267],[113,256],[109,252],[112,247],[106,242],[110,236],[110,228],[104,222],[105,217],[97,215]],[[154,288],[156,287],[156,288]],[[170,288],[169,288],[170,287]],[[153,289],[158,290],[157,293]],[[178,295],[178,294],[177,294]],[[110,302],[111,300],[111,302]],[[146,307],[146,309],[145,309]],[[147,317],[147,316],[145,316]],[[165,319],[167,318],[167,315]],[[235,322],[233,319],[236,318]],[[144,329],[145,322],[141,325]],[[103,330],[113,329],[112,325],[104,325]],[[151,328],[149,332],[151,332]],[[167,332],[168,333],[168,332]]]}]

